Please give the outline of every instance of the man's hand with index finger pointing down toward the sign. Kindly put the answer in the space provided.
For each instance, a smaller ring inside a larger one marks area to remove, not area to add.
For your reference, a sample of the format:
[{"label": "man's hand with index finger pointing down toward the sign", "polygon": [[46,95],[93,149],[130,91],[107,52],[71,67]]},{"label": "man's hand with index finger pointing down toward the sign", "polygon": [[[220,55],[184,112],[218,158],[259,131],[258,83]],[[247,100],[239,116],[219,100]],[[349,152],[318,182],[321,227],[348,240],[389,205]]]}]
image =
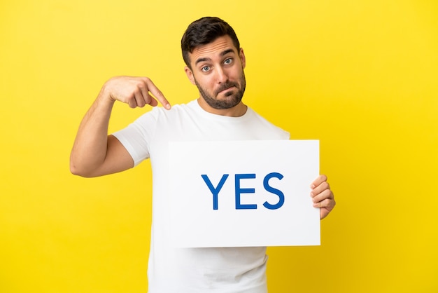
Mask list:
[{"label": "man's hand with index finger pointing down toward the sign", "polygon": [[131,108],[144,107],[146,104],[155,107],[158,102],[165,109],[171,108],[169,101],[148,77],[113,77],[106,81],[101,94],[109,97],[113,102],[129,104]]}]

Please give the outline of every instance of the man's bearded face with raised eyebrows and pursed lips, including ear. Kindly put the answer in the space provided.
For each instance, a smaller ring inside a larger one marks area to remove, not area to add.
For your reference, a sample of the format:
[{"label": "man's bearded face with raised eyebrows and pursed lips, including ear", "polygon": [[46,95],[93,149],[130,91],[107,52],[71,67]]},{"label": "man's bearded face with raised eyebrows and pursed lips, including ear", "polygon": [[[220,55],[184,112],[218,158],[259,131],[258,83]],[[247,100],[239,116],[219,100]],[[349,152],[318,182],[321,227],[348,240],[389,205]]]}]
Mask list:
[{"label": "man's bearded face with raised eyebrows and pursed lips, including ear", "polygon": [[185,67],[185,73],[210,107],[230,109],[241,102],[246,87],[245,55],[229,36],[199,46],[189,56],[192,69]]}]

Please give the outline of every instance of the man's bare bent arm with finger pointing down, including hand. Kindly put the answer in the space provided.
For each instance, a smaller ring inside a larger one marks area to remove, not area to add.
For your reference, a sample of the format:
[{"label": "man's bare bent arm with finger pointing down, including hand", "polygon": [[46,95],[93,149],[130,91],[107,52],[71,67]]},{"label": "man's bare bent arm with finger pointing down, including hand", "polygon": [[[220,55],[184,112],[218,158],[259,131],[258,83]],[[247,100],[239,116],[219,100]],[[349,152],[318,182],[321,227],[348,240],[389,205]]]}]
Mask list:
[{"label": "man's bare bent arm with finger pointing down, including hand", "polygon": [[134,161],[123,145],[108,136],[108,123],[115,101],[129,107],[157,106],[150,94],[170,109],[170,104],[161,91],[146,77],[119,76],[107,81],[92,107],[79,125],[70,155],[70,171],[83,177],[97,177],[127,170]]}]

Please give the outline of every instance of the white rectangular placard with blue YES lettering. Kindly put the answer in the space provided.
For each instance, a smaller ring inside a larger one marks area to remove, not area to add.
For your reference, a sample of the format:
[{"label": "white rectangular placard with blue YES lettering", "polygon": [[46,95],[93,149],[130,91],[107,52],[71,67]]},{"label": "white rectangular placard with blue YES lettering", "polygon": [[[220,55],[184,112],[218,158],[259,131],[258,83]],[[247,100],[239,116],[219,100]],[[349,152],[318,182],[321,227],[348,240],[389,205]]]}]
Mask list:
[{"label": "white rectangular placard with blue YES lettering", "polygon": [[172,142],[175,247],[320,245],[318,140]]}]

